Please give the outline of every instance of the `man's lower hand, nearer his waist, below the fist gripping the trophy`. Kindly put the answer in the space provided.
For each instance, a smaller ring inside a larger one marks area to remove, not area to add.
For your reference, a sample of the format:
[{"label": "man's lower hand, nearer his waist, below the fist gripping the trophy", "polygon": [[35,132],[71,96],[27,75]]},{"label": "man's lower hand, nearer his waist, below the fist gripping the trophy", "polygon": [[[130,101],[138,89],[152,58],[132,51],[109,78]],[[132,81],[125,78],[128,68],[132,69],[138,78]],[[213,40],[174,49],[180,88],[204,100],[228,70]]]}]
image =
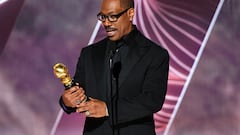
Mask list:
[{"label": "man's lower hand, nearer his waist, below the fist gripping the trophy", "polygon": [[86,117],[101,118],[107,116],[105,102],[91,97],[89,99],[89,101],[77,105],[77,112],[83,113]]}]

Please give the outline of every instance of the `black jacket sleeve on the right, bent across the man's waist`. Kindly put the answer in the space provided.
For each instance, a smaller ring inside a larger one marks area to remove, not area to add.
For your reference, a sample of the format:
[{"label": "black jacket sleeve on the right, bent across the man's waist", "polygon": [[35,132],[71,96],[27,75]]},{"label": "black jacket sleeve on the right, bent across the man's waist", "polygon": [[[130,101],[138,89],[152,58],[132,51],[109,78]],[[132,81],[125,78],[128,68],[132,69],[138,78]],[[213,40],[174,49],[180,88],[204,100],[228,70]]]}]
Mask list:
[{"label": "black jacket sleeve on the right, bent across the man's waist", "polygon": [[161,110],[167,91],[168,71],[169,55],[164,50],[149,65],[144,76],[141,93],[134,97],[121,97],[118,100],[114,98],[113,102],[117,104],[117,108],[107,101],[110,119],[114,116],[111,112],[117,110],[114,112],[117,113],[114,125],[137,121],[148,116],[152,117],[153,113]]}]

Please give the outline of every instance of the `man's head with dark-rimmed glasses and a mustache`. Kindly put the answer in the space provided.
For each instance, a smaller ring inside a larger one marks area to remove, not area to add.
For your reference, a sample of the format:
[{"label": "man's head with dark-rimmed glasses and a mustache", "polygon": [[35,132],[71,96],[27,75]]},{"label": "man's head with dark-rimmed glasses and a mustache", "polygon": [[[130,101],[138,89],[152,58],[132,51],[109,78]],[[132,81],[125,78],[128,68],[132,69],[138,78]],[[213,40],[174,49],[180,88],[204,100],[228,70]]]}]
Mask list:
[{"label": "man's head with dark-rimmed glasses and a mustache", "polygon": [[[117,41],[127,35],[133,29],[134,16],[133,0],[103,0],[100,10],[105,20],[102,21],[108,38]],[[111,18],[116,18],[111,21]],[[110,19],[109,19],[110,18]]]}]

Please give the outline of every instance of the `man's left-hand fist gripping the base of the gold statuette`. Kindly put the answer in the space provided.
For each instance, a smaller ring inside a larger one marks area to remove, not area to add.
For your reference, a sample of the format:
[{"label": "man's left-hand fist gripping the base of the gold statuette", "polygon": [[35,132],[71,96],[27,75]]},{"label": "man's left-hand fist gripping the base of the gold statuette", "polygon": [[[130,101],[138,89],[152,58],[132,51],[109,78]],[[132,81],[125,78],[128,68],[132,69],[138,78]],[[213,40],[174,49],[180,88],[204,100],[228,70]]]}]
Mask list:
[{"label": "man's left-hand fist gripping the base of the gold statuette", "polygon": [[74,86],[68,90],[64,90],[62,99],[66,106],[76,107],[86,98],[83,88]]}]

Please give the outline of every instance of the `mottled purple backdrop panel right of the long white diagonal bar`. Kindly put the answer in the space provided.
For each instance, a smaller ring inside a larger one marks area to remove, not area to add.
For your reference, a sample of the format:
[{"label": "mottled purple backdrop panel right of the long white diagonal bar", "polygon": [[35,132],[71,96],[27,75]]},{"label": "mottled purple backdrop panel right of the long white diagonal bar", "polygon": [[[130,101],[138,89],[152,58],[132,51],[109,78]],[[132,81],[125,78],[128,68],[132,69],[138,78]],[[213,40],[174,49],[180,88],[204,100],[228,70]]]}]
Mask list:
[{"label": "mottled purple backdrop panel right of the long white diagonal bar", "polygon": [[240,134],[239,15],[225,0],[169,135]]}]

